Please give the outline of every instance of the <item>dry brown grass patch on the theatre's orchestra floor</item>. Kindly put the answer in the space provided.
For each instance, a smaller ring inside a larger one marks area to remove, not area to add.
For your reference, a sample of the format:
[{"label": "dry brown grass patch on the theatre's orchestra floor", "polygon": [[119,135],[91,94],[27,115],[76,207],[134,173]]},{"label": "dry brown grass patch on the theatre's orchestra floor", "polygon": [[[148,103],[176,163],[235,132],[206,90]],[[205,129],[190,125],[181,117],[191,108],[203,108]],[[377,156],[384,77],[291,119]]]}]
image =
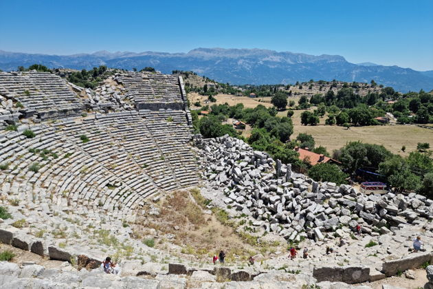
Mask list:
[{"label": "dry brown grass patch on the theatre's orchestra floor", "polygon": [[[199,206],[201,204],[201,206]],[[275,252],[283,249],[285,244],[259,244],[256,237],[247,233],[237,233],[237,220],[228,220],[225,211],[215,209],[209,215],[203,210],[206,200],[198,189],[188,191],[176,191],[167,195],[164,200],[155,204],[160,208],[160,215],[143,215],[138,217],[135,226],[135,237],[148,238],[148,229],[153,228],[160,234],[173,234],[173,239],[158,238],[157,248],[166,248],[166,242],[171,242],[181,247],[181,252],[195,255],[210,261],[210,258],[219,250],[224,250],[227,261],[235,259],[246,261],[250,255]],[[144,208],[148,211],[148,208]],[[175,226],[178,227],[176,230]],[[282,246],[281,248],[278,248]],[[179,252],[171,252],[173,254]],[[181,255],[181,257],[186,257]]]}]

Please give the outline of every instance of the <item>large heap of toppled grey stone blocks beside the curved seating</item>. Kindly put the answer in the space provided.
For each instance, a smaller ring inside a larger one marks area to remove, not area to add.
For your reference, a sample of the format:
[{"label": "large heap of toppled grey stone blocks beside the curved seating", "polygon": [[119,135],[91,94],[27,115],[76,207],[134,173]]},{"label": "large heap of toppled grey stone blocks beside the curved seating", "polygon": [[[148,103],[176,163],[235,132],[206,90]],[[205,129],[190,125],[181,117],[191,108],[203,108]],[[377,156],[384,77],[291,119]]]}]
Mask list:
[{"label": "large heap of toppled grey stone blocks beside the curved seating", "polygon": [[290,164],[275,162],[243,140],[223,136],[196,142],[206,158],[204,175],[214,189],[225,188],[225,204],[289,241],[343,237],[357,224],[363,233],[377,236],[433,215],[433,201],[423,195],[365,195],[346,184],[319,183],[294,173]]}]

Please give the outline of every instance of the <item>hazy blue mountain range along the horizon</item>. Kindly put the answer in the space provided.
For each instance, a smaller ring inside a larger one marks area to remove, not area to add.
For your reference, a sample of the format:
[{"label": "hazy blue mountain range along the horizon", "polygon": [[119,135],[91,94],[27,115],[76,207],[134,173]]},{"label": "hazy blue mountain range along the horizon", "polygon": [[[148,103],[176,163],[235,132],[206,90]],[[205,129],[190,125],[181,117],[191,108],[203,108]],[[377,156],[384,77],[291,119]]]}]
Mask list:
[{"label": "hazy blue mountain range along the horizon", "polygon": [[193,71],[222,83],[277,84],[324,80],[370,82],[394,87],[397,91],[433,89],[433,70],[419,72],[410,68],[375,63],[350,63],[343,56],[313,56],[260,49],[197,48],[188,53],[107,52],[67,56],[27,54],[0,50],[0,69],[16,70],[34,63],[49,68],[91,69],[99,65],[131,70],[146,66],[163,73]]}]

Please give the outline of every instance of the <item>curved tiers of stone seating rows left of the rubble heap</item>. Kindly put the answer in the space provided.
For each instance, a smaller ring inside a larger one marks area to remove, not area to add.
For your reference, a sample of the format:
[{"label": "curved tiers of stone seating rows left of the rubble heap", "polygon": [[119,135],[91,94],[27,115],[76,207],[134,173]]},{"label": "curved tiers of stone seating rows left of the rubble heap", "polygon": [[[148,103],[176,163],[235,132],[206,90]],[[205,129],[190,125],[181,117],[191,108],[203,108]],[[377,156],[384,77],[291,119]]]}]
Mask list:
[{"label": "curved tiers of stone seating rows left of the rubble heap", "polygon": [[[186,145],[192,131],[181,78],[140,73],[118,78],[126,98],[142,110],[73,119],[66,117],[81,114],[85,100],[58,76],[0,73],[0,94],[21,103],[24,118],[58,119],[0,131],[0,164],[8,167],[0,191],[44,211],[55,205],[122,217],[157,191],[197,184],[196,160]],[[35,136],[23,136],[25,129]]]}]

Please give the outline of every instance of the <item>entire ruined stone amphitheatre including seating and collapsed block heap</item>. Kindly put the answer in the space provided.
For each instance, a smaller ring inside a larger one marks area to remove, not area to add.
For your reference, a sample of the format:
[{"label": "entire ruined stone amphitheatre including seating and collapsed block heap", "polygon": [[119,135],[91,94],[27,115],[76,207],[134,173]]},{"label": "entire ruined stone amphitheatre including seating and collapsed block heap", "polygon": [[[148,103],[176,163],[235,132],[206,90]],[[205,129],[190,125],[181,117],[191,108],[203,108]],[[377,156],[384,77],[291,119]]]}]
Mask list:
[{"label": "entire ruined stone amphitheatre including seating and collapsed block heap", "polygon": [[[242,140],[193,137],[180,76],[122,72],[85,89],[54,74],[0,72],[0,105],[0,206],[11,215],[0,219],[0,242],[65,262],[0,262],[0,289],[350,288],[433,262],[433,200],[364,195],[294,173]],[[198,185],[203,213],[224,209],[236,232],[308,246],[310,257],[275,252],[251,268],[177,264],[174,235],[149,228],[169,250],[131,237],[137,210],[163,215],[157,194]],[[409,255],[414,234],[427,253]],[[326,246],[336,252],[324,254]],[[115,250],[129,250],[122,277],[69,264],[96,268]]]}]

